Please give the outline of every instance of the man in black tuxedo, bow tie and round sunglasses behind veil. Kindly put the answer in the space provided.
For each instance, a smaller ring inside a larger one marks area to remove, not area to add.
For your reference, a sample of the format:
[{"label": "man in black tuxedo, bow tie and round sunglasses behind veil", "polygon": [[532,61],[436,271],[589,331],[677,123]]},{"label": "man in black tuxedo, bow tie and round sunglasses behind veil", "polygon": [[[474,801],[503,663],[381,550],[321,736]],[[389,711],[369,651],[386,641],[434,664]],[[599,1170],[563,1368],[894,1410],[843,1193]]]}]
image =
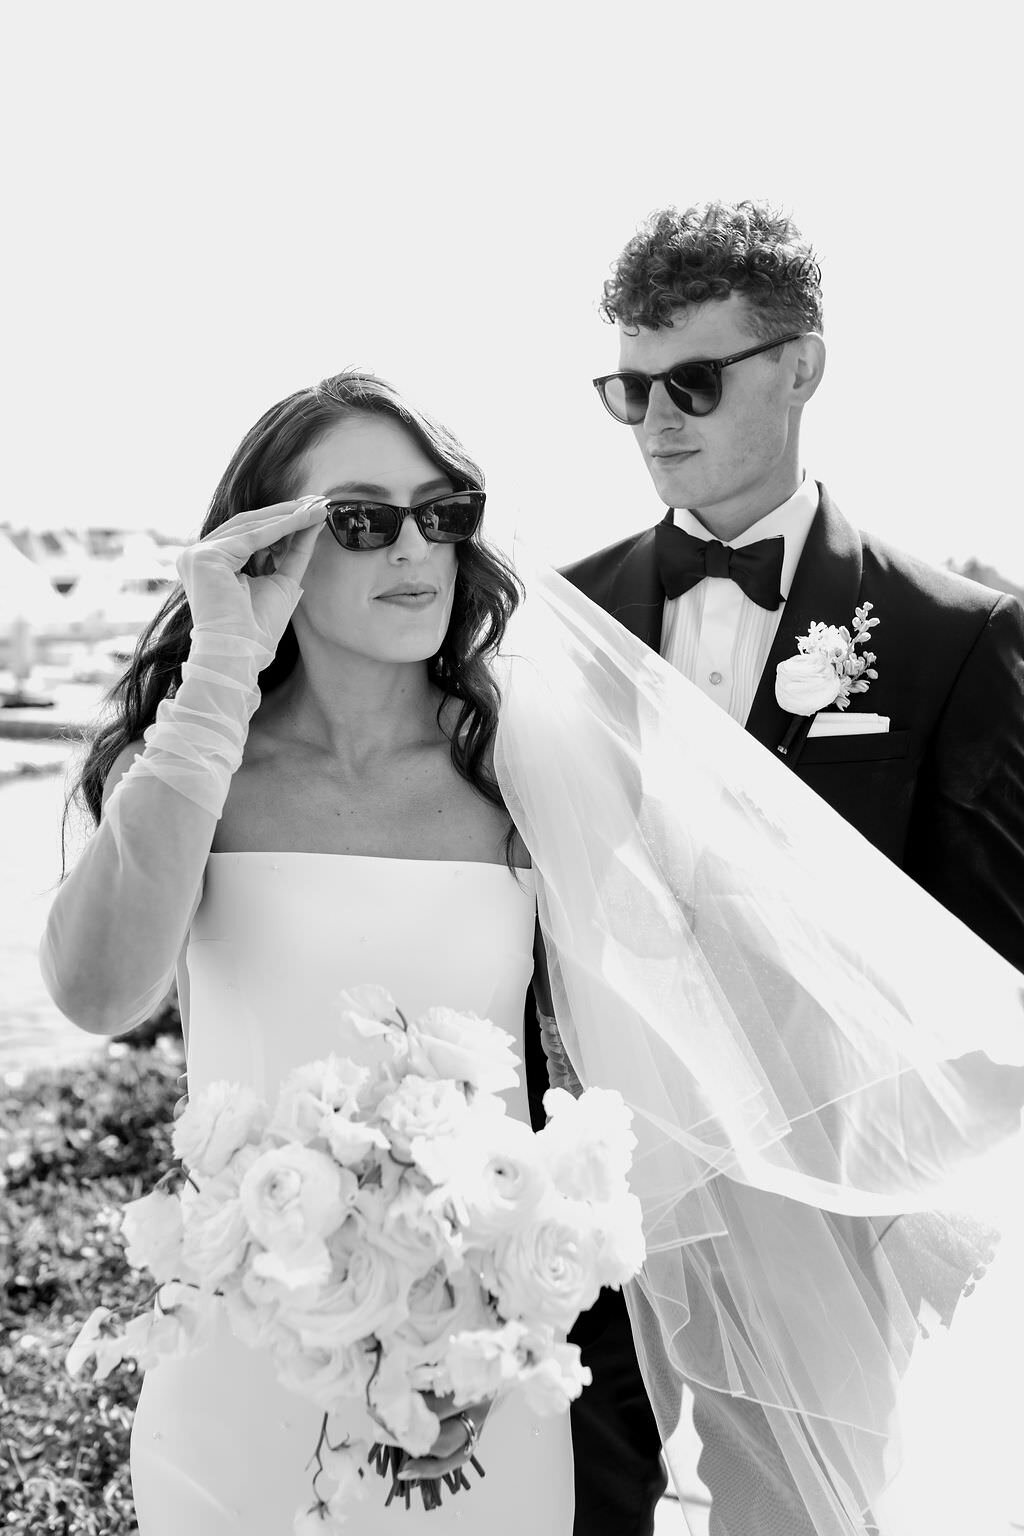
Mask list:
[{"label": "man in black tuxedo, bow tie and round sunglasses behind veil", "polygon": [[[602,310],[619,364],[599,393],[669,510],[563,574],[1024,969],[1024,611],[858,533],[804,473],[824,370],[811,247],[765,204],[666,209],[623,249]],[[798,636],[852,631],[864,604],[877,677],[851,708],[780,702]],[[620,1296],[573,1336],[594,1372],[573,1409],[577,1536],[649,1536],[665,1479]],[[758,1476],[760,1410],[740,1404],[737,1435],[732,1409],[697,1393],[711,1536],[804,1536],[795,1493],[774,1507]]]}]

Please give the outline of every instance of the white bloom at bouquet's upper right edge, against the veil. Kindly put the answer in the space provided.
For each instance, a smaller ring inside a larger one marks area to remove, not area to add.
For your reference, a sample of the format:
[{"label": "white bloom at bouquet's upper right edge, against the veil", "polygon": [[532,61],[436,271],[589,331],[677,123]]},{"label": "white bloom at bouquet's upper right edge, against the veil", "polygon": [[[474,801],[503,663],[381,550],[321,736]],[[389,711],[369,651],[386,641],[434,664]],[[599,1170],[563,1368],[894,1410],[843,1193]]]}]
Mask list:
[{"label": "white bloom at bouquet's upper right edge, against the veil", "polygon": [[622,1094],[588,1087],[574,1098],[563,1087],[550,1087],[543,1107],[550,1120],[537,1134],[537,1150],[559,1192],[570,1200],[623,1193],[637,1138]]}]

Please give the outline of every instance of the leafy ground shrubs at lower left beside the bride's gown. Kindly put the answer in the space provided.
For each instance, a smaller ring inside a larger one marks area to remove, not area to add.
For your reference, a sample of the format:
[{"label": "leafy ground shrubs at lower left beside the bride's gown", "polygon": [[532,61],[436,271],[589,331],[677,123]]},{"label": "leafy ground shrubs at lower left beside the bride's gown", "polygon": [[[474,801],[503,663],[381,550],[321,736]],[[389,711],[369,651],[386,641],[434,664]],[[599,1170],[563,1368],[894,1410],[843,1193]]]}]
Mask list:
[{"label": "leafy ground shrubs at lower left beside the bride's gown", "polygon": [[127,1450],[140,1379],[72,1381],[68,1346],[95,1306],[137,1310],[118,1209],[172,1161],[180,1041],[111,1046],[0,1084],[0,1508],[18,1536],[135,1531]]}]

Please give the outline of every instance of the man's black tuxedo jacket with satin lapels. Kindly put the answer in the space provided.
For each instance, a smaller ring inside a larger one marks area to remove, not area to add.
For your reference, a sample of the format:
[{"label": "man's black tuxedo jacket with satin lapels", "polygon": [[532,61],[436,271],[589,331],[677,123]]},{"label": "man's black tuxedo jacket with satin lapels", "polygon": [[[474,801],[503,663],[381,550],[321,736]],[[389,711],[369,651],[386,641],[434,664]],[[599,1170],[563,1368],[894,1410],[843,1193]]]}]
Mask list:
[{"label": "man's black tuxedo jacket with satin lapels", "polygon": [[[746,730],[777,750],[792,717],[775,667],[812,622],[851,627],[872,602],[878,677],[851,708],[887,714],[890,730],[812,737],[794,773],[1024,971],[1024,608],[858,533],[818,490]],[[654,528],[562,574],[660,648]]]}]

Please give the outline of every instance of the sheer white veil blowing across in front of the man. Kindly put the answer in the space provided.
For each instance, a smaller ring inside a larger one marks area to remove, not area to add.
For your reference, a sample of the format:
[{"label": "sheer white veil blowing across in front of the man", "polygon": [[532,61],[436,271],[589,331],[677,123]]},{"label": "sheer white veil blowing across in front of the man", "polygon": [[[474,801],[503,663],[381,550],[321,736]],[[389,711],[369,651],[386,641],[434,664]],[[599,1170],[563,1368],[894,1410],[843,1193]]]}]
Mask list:
[{"label": "sheer white veil blowing across in front of the man", "polygon": [[662,1433],[686,1379],[754,1435],[792,1528],[987,1530],[953,1513],[953,1455],[910,1471],[921,1402],[975,1390],[952,1341],[1024,1204],[1024,977],[568,582],[520,571],[496,773],[568,1058],[634,1111],[626,1299]]}]

